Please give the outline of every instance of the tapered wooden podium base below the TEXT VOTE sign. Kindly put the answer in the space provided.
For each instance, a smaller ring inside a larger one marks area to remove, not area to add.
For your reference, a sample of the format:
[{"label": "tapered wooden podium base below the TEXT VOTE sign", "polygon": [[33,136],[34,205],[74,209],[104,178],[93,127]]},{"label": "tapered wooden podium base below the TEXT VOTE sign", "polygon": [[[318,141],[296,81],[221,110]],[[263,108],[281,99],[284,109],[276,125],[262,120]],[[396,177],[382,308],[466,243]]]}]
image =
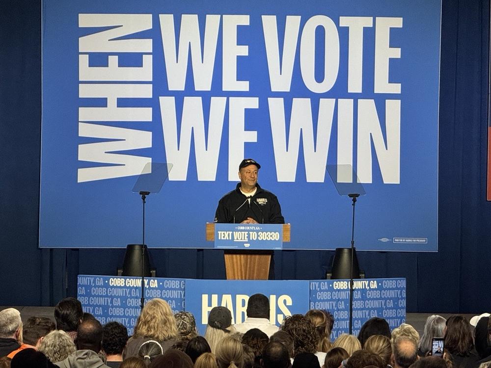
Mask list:
[{"label": "tapered wooden podium base below the TEXT VOTE sign", "polygon": [[268,280],[271,253],[225,251],[227,280]]}]

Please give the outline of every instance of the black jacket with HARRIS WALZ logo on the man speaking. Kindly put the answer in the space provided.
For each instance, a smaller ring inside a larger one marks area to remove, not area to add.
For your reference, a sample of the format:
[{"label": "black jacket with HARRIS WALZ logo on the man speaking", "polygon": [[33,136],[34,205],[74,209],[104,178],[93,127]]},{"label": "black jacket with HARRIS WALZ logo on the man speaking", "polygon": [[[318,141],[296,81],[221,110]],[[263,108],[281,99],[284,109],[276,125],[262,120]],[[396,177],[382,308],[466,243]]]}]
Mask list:
[{"label": "black jacket with HARRIS WALZ logo on the man speaking", "polygon": [[285,218],[281,215],[281,207],[278,198],[268,190],[264,190],[256,184],[256,194],[247,200],[242,194],[241,183],[235,190],[225,194],[218,202],[215,222],[241,223],[247,217],[251,217],[262,224],[284,224]]}]

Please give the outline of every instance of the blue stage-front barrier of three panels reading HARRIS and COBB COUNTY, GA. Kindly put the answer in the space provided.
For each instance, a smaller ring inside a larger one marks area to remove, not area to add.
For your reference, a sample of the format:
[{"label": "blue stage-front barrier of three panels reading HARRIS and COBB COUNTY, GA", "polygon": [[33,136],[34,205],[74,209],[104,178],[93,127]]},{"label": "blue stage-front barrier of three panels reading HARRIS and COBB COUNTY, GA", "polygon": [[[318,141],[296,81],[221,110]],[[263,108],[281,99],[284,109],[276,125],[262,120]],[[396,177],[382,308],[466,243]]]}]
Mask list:
[{"label": "blue stage-front barrier of three panels reading HARRIS and COBB COUNTY, GA", "polygon": [[[145,279],[145,302],[153,298],[167,301],[174,312],[186,310],[196,318],[198,332],[204,334],[213,307],[225,306],[232,323],[246,317],[247,300],[255,293],[270,299],[270,321],[280,325],[285,316],[305,314],[308,309],[324,309],[334,315],[331,339],[348,333],[349,280],[193,280]],[[133,333],[140,312],[141,279],[137,277],[79,275],[78,299],[83,311],[101,323],[118,321]],[[353,333],[370,317],[387,320],[391,329],[406,319],[406,279],[355,280]]]}]

